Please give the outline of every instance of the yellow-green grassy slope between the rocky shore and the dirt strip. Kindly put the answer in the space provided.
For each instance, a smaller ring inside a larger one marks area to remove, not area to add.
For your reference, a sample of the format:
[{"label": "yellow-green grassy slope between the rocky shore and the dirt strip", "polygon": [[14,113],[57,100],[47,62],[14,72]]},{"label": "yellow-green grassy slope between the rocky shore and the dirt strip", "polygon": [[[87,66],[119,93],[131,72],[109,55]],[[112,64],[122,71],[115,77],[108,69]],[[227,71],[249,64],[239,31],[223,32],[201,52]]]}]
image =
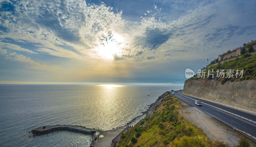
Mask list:
[{"label": "yellow-green grassy slope between the rocky shore and the dirt strip", "polygon": [[121,132],[118,147],[148,146],[228,146],[211,142],[202,129],[178,113],[180,100],[165,92],[151,116],[147,116],[128,132]]}]

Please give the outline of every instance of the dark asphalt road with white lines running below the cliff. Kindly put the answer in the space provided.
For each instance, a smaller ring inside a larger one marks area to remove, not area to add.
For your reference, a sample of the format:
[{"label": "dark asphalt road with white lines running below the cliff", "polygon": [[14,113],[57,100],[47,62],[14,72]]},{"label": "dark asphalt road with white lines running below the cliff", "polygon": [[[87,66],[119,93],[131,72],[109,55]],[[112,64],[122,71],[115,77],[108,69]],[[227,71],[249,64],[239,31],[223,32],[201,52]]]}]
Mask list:
[{"label": "dark asphalt road with white lines running below the cliff", "polygon": [[[188,103],[190,103],[191,106],[196,107],[196,108],[202,110],[203,112],[206,112],[206,114],[208,114],[212,117],[216,117],[217,119],[219,119],[221,121],[224,121],[224,122],[228,123],[229,125],[231,125],[233,127],[236,127],[237,129],[245,131],[245,132],[251,134],[252,136],[256,137],[256,123],[253,123],[253,122],[250,122],[250,121],[245,120],[243,118],[240,118],[240,117],[237,117],[235,115],[229,114],[225,111],[221,111],[221,110],[219,110],[217,108],[214,108],[214,107],[221,108],[223,110],[226,110],[226,111],[229,111],[231,113],[243,116],[243,117],[248,118],[248,119],[253,120],[253,121],[256,121],[256,115],[249,114],[249,113],[246,113],[246,112],[243,112],[243,111],[240,111],[240,110],[237,110],[237,109],[233,109],[233,108],[230,108],[230,107],[226,107],[226,106],[223,106],[223,105],[220,105],[220,104],[216,104],[216,103],[213,103],[213,102],[210,102],[210,101],[207,101],[207,100],[191,97],[191,96],[182,94],[180,92],[181,91],[175,92],[175,93],[178,93],[180,95],[175,94],[174,96],[179,98],[179,99],[183,99],[183,100],[187,101]],[[184,96],[186,96],[186,97],[184,97]],[[192,99],[189,99],[187,97],[192,98]],[[193,100],[193,99],[200,100],[201,102],[210,104],[214,107],[211,107],[211,106],[206,105],[206,104],[202,104],[202,106],[197,106],[195,104],[195,100]]]}]

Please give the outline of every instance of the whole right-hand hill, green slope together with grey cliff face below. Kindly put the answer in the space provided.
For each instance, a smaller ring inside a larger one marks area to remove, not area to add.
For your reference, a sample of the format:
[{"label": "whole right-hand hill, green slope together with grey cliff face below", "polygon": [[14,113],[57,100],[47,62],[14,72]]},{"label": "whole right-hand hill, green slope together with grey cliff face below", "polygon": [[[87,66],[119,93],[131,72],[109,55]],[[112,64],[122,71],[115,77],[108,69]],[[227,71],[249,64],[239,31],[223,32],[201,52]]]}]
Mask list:
[{"label": "whole right-hand hill, green slope together with grey cliff face below", "polygon": [[256,113],[255,47],[256,41],[252,40],[244,43],[241,55],[212,61],[201,73],[185,81],[183,93]]}]

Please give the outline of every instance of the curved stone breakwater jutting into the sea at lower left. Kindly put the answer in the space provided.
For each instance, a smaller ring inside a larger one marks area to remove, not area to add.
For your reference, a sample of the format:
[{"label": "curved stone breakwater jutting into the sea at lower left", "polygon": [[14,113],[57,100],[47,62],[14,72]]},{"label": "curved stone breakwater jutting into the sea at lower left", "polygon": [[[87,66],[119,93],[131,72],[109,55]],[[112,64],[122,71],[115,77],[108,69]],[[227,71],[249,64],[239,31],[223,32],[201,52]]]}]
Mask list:
[{"label": "curved stone breakwater jutting into the sea at lower left", "polygon": [[67,130],[67,131],[73,131],[73,132],[79,132],[83,134],[94,134],[96,131],[94,129],[85,128],[83,126],[74,126],[74,125],[54,125],[54,126],[43,126],[38,127],[31,132],[34,134],[33,136],[40,136],[42,134],[48,134],[54,131],[59,130]]}]

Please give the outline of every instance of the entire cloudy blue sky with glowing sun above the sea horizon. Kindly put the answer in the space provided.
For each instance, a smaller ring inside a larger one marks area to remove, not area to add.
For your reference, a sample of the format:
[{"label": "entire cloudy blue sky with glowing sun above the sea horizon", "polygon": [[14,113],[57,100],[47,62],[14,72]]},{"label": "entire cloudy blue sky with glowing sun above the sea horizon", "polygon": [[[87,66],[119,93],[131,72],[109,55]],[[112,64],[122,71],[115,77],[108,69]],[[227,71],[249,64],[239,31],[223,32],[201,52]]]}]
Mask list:
[{"label": "entire cloudy blue sky with glowing sun above the sea horizon", "polygon": [[0,0],[0,81],[184,83],[187,68],[197,71],[256,39],[255,6]]}]

